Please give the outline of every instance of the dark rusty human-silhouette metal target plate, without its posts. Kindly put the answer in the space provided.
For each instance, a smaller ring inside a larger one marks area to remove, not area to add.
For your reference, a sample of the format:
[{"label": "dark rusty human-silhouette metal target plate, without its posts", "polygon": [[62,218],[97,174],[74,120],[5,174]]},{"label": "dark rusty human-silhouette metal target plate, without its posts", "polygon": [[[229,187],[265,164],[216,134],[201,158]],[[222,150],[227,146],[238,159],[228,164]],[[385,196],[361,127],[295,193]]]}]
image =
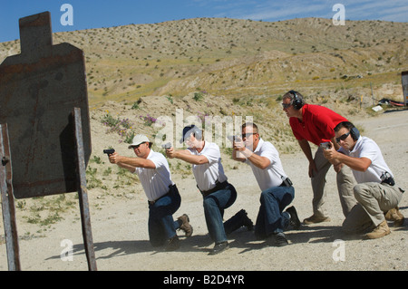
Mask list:
[{"label": "dark rusty human-silhouette metal target plate, without its posts", "polygon": [[77,191],[73,109],[91,155],[83,51],[53,45],[49,12],[20,19],[21,54],[0,65],[0,123],[7,123],[16,198]]}]

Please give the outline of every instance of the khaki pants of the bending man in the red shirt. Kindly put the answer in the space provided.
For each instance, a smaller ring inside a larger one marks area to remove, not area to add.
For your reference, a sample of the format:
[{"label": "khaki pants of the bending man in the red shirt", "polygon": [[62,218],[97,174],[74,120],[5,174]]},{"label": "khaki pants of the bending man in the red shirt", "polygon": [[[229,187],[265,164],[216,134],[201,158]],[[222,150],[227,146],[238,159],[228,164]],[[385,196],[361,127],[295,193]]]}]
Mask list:
[{"label": "khaki pants of the bending man in the red shirt", "polygon": [[[325,176],[327,175],[328,170],[332,167],[332,164],[325,159],[323,149],[320,147],[316,150],[314,160],[317,172],[314,171],[314,177],[311,178],[313,189],[313,215],[316,217],[327,217],[325,208]],[[343,214],[346,217],[351,209],[357,204],[353,193],[353,188],[356,184],[355,177],[349,167],[343,166],[343,168],[337,173],[336,178],[340,204],[343,209]]]}]

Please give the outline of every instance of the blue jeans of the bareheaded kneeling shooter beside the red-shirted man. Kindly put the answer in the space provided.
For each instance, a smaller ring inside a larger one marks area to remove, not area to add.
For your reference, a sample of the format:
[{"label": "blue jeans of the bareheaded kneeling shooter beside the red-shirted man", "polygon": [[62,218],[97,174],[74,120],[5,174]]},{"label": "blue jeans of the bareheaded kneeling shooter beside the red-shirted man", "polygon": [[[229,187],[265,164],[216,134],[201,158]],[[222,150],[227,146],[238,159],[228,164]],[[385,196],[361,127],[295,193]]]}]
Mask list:
[{"label": "blue jeans of the bareheaded kneeling shooter beside the red-shirted man", "polygon": [[289,214],[282,212],[295,197],[293,187],[267,188],[261,193],[259,213],[255,224],[255,236],[264,239],[283,232],[289,225]]}]

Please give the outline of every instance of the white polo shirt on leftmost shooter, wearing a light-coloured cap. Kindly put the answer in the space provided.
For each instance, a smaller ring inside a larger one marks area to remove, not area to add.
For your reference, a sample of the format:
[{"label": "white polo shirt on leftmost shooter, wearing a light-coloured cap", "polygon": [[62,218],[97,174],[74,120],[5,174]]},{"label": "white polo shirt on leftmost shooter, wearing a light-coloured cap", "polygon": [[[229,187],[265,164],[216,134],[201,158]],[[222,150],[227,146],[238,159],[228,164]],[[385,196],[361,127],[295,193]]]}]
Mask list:
[{"label": "white polo shirt on leftmost shooter, wearing a light-coloured cap", "polygon": [[171,180],[169,163],[161,153],[151,149],[147,159],[154,163],[156,169],[136,168],[134,172],[141,180],[141,187],[146,197],[154,201],[166,195],[169,192],[169,186],[174,183]]}]

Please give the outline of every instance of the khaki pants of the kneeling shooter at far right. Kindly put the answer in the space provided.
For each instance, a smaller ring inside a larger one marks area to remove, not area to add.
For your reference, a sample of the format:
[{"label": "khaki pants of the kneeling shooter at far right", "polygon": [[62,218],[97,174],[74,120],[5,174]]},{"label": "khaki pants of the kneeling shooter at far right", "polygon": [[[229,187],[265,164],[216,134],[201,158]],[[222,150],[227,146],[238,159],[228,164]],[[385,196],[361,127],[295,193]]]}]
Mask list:
[{"label": "khaki pants of the kneeling shooter at far right", "polygon": [[367,228],[378,226],[384,221],[384,213],[397,207],[403,192],[400,188],[380,183],[362,183],[354,188],[358,204],[345,217],[343,229],[354,233]]}]

